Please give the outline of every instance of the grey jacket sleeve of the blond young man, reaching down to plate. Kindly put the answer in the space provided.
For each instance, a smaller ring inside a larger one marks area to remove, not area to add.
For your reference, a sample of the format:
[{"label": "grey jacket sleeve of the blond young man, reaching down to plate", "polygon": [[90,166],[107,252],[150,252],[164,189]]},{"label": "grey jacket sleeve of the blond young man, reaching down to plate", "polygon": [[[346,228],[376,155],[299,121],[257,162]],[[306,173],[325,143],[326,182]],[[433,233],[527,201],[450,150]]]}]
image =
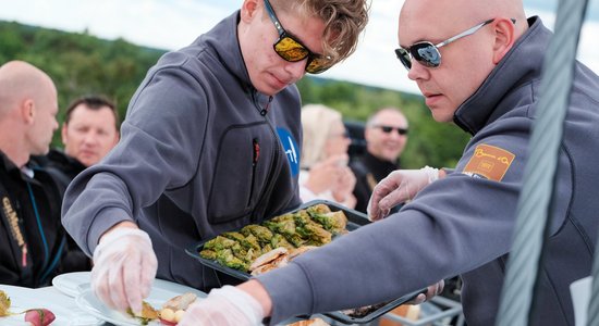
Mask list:
[{"label": "grey jacket sleeve of the blond young man, reaching down to plate", "polygon": [[133,97],[118,146],[69,186],[62,222],[91,255],[99,237],[194,175],[209,116],[204,89],[182,66],[150,71]]}]

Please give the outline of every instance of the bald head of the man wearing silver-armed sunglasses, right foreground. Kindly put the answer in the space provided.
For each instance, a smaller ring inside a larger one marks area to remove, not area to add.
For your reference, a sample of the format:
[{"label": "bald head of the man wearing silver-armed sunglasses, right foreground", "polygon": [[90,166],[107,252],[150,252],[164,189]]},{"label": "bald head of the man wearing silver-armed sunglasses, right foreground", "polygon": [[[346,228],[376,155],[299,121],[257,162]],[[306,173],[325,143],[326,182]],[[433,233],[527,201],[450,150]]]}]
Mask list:
[{"label": "bald head of the man wearing silver-armed sunglasses, right foreground", "polygon": [[426,53],[436,57],[435,66],[421,58],[412,60],[407,75],[432,117],[451,122],[527,28],[522,0],[405,0],[400,46],[409,49],[428,41]]}]

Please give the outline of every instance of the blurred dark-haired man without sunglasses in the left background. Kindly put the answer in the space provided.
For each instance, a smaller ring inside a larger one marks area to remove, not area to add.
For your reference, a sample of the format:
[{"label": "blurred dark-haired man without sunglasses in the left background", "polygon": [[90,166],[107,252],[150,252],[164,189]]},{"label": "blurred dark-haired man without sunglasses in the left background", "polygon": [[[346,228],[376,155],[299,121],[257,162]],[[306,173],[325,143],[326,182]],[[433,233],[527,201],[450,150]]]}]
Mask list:
[{"label": "blurred dark-haired man without sunglasses in the left background", "polygon": [[98,163],[119,142],[117,105],[102,96],[86,96],[66,108],[61,128],[64,151],[48,153],[48,167],[62,174],[64,186],[86,167]]}]

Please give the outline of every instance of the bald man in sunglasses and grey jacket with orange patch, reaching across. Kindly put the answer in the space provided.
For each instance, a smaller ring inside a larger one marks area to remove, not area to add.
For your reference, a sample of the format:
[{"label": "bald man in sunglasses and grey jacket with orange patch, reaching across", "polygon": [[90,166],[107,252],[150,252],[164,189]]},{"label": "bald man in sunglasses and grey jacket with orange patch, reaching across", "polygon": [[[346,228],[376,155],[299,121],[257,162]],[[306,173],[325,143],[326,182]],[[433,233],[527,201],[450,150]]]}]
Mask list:
[{"label": "bald man in sunglasses and grey jacket with orange patch, reaching across", "polygon": [[[369,213],[381,220],[417,193],[399,213],[240,285],[246,296],[236,297],[237,304],[257,305],[253,312],[274,324],[386,301],[461,275],[467,325],[494,325],[551,36],[539,17],[526,18],[521,0],[406,0],[396,53],[433,118],[472,134],[463,156],[453,171],[394,172],[375,189]],[[569,288],[591,271],[598,90],[599,77],[576,62],[527,325],[574,325]],[[208,298],[191,312],[219,315],[222,306]]]}]

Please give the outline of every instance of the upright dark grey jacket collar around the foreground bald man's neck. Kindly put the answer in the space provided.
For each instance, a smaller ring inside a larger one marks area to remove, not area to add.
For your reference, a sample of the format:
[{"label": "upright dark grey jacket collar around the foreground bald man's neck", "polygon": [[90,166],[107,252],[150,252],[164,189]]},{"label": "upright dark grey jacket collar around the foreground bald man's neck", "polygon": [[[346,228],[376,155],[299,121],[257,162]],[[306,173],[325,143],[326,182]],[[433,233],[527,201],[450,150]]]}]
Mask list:
[{"label": "upright dark grey jacket collar around the foreground bald man's neck", "polygon": [[525,104],[523,100],[531,102],[530,97],[522,97],[518,89],[540,79],[543,55],[552,34],[538,16],[528,18],[528,30],[478,90],[455,111],[453,121],[465,131],[475,135],[513,108]]}]

